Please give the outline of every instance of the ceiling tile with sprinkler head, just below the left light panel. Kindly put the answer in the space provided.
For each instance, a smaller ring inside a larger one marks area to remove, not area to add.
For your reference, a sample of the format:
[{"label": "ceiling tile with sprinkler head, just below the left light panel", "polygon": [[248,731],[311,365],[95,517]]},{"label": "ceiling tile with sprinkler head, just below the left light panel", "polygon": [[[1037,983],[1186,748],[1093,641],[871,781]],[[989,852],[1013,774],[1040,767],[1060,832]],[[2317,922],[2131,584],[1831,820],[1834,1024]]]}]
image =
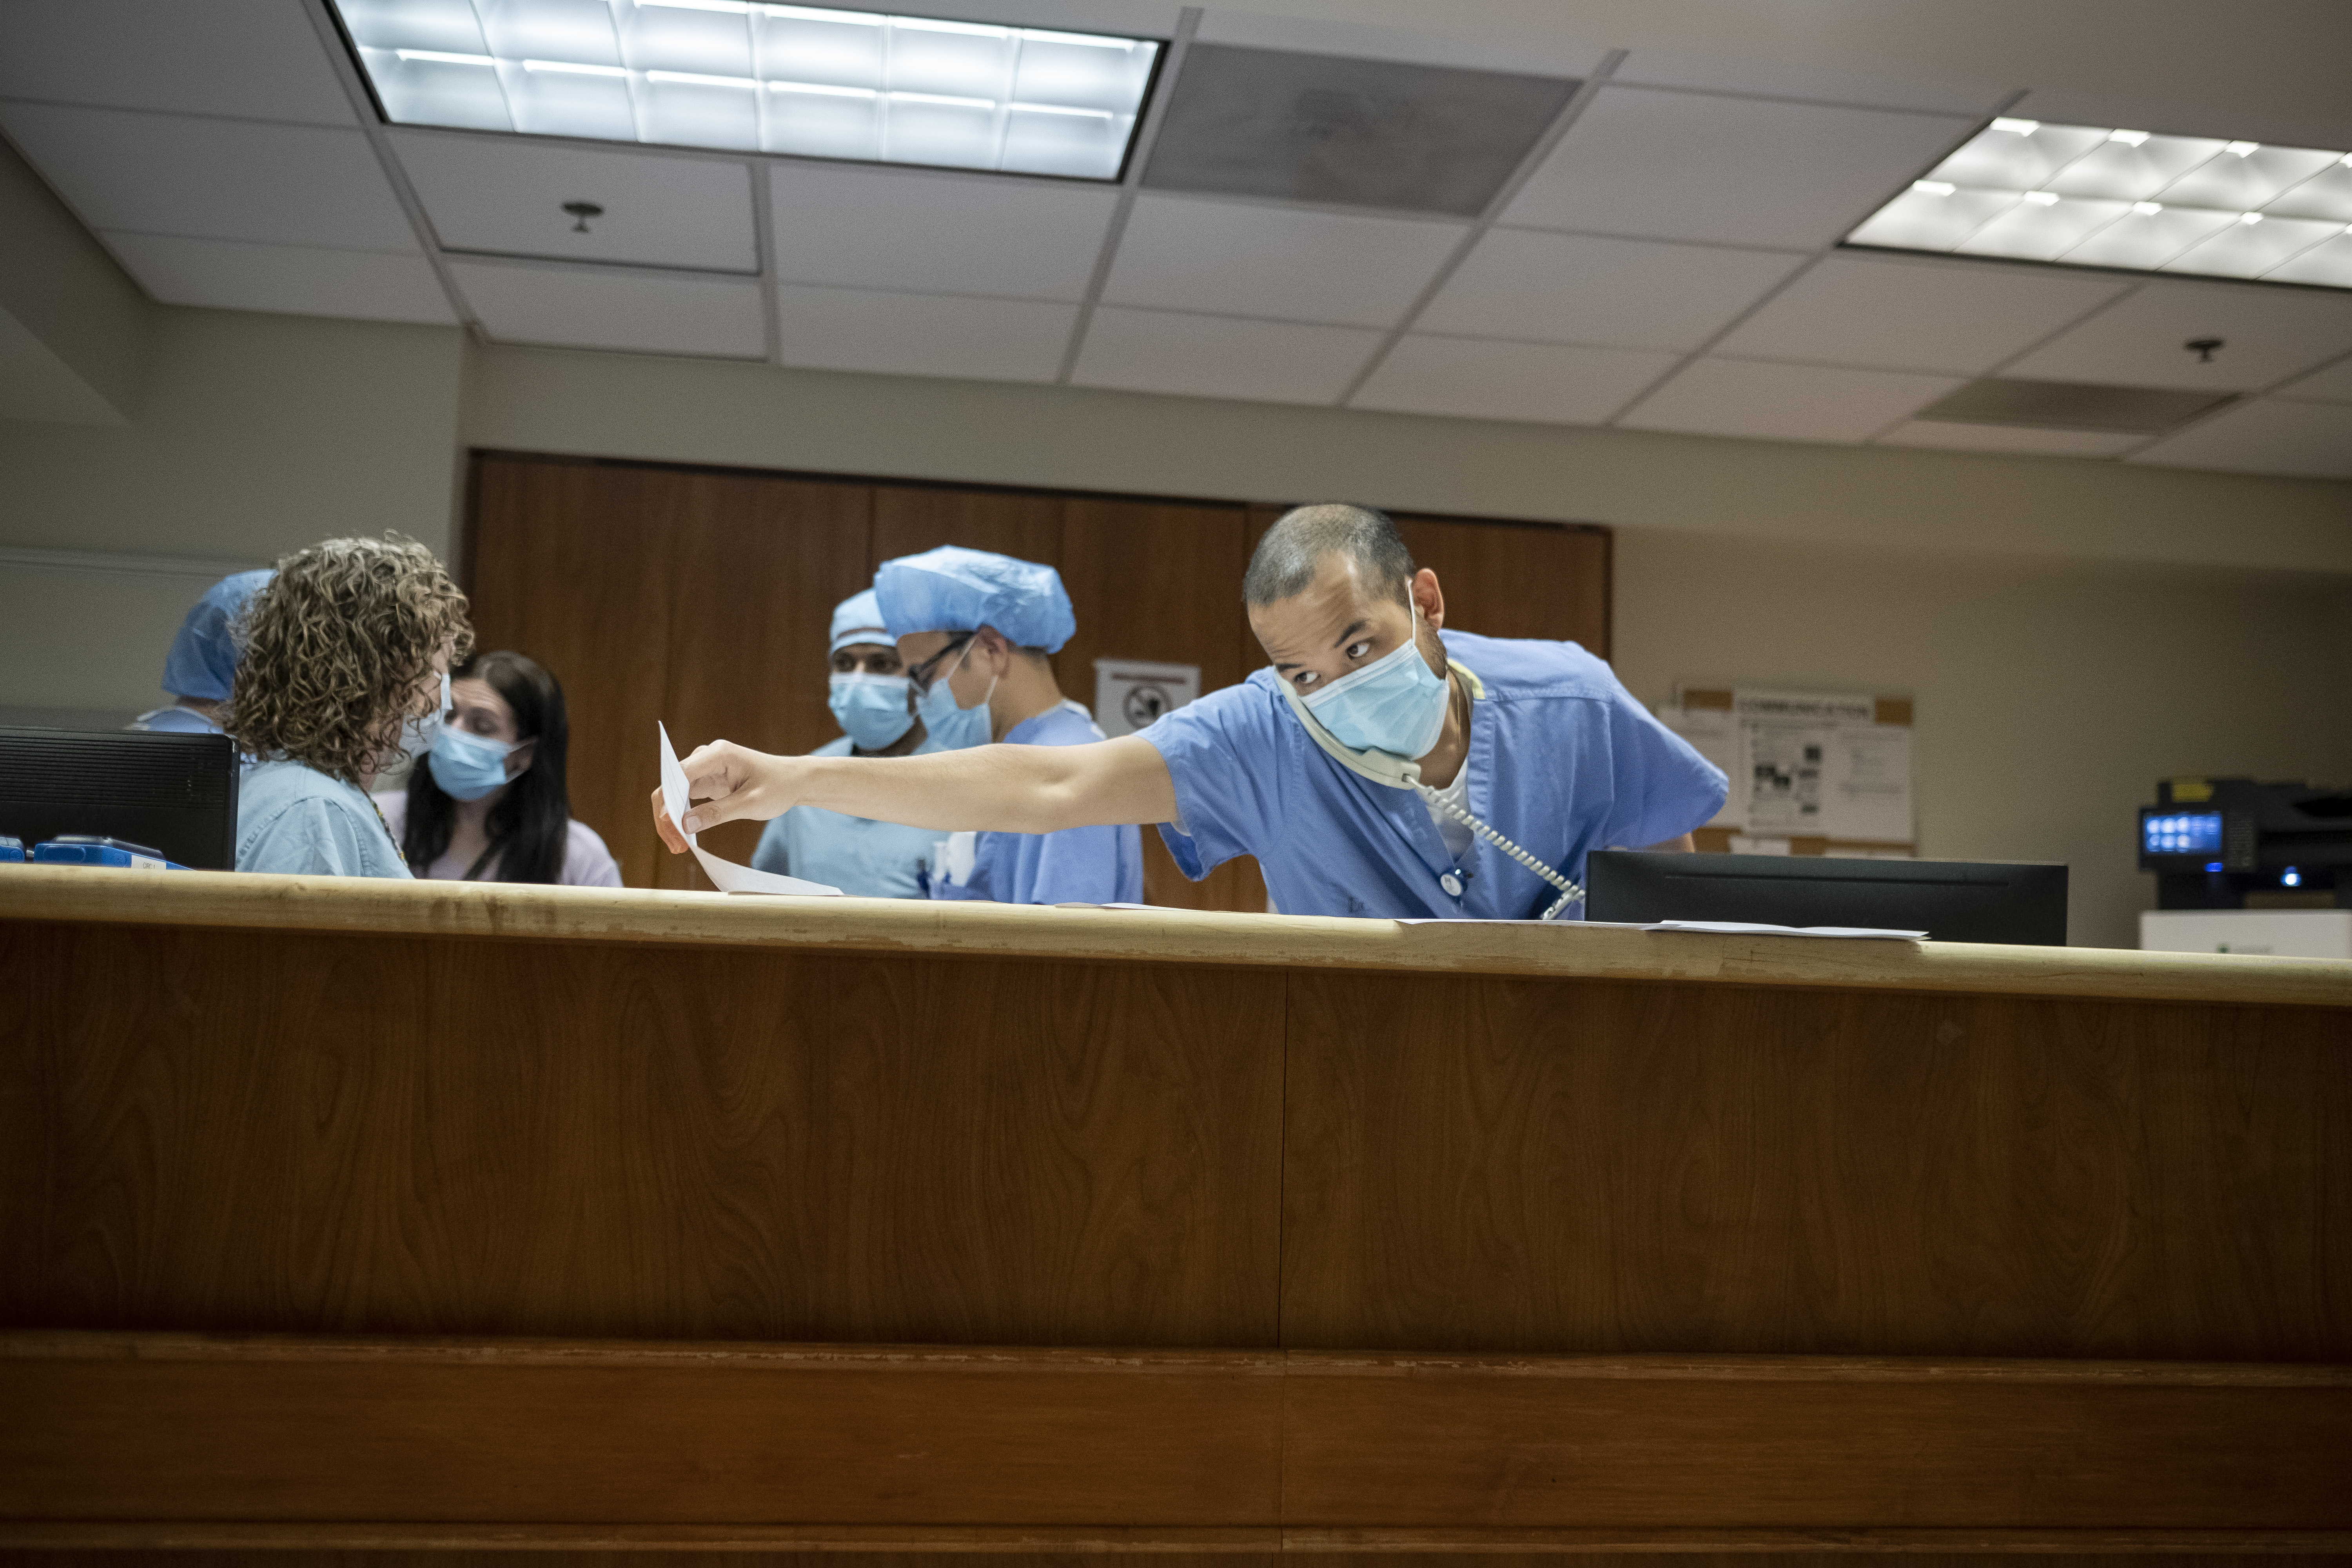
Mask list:
[{"label": "ceiling tile with sprinkler head, just below the left light panel", "polygon": [[[741,162],[548,146],[520,136],[393,132],[445,249],[757,273]],[[564,202],[595,202],[581,219]]]}]

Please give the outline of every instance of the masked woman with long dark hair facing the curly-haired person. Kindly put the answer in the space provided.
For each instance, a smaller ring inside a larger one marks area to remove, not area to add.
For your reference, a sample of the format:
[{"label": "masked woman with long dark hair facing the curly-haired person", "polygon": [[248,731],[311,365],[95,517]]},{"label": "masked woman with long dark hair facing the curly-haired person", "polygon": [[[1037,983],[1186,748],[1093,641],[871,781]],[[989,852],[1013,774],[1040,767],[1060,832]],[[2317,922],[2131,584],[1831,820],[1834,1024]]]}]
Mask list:
[{"label": "masked woman with long dark hair facing the curly-haired person", "polygon": [[564,790],[564,689],[522,654],[480,654],[449,679],[452,715],[379,795],[409,870],[449,882],[621,886],[604,839],[572,816]]}]

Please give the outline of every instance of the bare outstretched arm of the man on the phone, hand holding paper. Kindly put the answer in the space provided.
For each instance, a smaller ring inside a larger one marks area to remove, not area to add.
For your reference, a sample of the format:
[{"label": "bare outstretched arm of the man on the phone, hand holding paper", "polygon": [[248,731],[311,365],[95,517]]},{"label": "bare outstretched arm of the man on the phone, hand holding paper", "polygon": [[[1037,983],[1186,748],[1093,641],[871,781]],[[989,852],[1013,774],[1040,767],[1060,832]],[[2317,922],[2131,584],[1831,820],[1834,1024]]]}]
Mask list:
[{"label": "bare outstretched arm of the man on the phone, hand holding paper", "polygon": [[[1176,818],[1176,783],[1138,736],[1091,745],[976,745],[931,757],[769,757],[713,741],[684,759],[687,832],[793,806],[941,832],[1061,832]],[[654,827],[670,853],[687,842],[654,790]]]}]

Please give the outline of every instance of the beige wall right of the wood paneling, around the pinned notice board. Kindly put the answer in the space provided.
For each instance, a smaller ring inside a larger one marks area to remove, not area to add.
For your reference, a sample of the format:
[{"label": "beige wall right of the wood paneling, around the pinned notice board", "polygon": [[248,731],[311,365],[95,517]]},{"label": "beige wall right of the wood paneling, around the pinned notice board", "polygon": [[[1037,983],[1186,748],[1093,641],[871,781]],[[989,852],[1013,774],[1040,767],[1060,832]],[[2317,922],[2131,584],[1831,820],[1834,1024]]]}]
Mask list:
[{"label": "beige wall right of the wood paneling, around the pinned notice board", "polygon": [[2136,947],[2133,806],[2171,773],[2352,783],[2333,578],[1618,534],[1616,668],[1910,696],[1919,853],[2065,860],[2072,940]]}]

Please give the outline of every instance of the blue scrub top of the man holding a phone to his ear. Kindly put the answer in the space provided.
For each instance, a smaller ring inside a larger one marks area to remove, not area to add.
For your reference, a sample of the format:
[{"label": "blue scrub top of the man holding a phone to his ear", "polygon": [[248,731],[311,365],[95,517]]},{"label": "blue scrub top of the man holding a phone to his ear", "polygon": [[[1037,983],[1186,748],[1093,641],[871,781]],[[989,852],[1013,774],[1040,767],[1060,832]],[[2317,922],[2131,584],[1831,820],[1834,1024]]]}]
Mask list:
[{"label": "blue scrub top of the man holding a phone to his ear", "polygon": [[[1722,809],[1724,771],[1573,642],[1442,642],[1486,686],[1470,703],[1470,813],[1573,882],[1588,851],[1663,844]],[[1421,795],[1327,757],[1275,679],[1258,670],[1141,731],[1176,783],[1183,832],[1160,835],[1185,877],[1256,856],[1284,914],[1536,919],[1557,898],[1484,839],[1456,860]],[[1446,872],[1461,896],[1437,882]]]}]

